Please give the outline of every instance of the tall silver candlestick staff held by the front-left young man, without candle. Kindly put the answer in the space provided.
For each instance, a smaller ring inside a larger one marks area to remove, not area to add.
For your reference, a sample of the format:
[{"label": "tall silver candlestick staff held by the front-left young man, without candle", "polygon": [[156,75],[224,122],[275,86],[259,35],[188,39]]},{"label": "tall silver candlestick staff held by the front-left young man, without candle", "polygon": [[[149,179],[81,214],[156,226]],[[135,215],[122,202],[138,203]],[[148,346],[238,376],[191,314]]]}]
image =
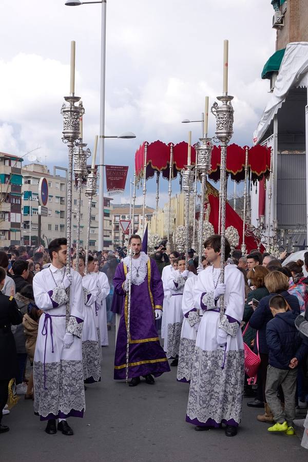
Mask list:
[{"label": "tall silver candlestick staff held by the front-left young man, without candle", "polygon": [[[63,103],[61,108],[61,114],[63,115],[63,138],[62,141],[67,144],[68,147],[68,178],[67,178],[67,196],[66,196],[66,237],[67,237],[67,256],[66,256],[66,268],[67,272],[70,273],[71,265],[71,229],[72,229],[72,181],[73,181],[73,154],[74,154],[74,142],[79,138],[80,128],[80,117],[84,114],[85,110],[82,104],[75,106],[78,103],[80,97],[75,97],[74,93],[71,93],[69,97],[64,97],[68,103]],[[69,292],[68,292],[69,294]],[[69,298],[69,295],[68,295]],[[69,300],[66,308],[66,322],[68,323],[70,315],[70,304]]]}]

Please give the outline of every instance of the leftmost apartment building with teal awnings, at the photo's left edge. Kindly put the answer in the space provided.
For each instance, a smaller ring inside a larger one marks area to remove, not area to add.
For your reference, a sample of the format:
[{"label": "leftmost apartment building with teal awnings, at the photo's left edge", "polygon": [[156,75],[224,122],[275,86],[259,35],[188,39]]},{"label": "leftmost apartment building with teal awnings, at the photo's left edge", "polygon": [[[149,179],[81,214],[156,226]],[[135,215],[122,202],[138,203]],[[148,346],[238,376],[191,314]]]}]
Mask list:
[{"label": "leftmost apartment building with teal awnings, at the photo's left edge", "polygon": [[21,242],[22,162],[0,152],[0,246]]}]

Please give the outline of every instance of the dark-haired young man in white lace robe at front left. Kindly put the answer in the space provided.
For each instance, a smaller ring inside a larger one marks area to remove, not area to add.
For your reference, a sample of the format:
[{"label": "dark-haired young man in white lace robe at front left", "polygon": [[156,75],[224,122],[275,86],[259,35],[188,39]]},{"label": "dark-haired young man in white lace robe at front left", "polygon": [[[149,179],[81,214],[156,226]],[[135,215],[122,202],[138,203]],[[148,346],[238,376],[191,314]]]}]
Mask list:
[{"label": "dark-haired young man in white lace robe at front left", "polygon": [[[47,420],[46,433],[73,435],[67,417],[83,417],[82,329],[85,317],[81,276],[66,269],[65,238],[50,242],[51,265],[33,278],[35,304],[43,310],[33,363],[34,412]],[[69,306],[68,303],[69,294]]]}]

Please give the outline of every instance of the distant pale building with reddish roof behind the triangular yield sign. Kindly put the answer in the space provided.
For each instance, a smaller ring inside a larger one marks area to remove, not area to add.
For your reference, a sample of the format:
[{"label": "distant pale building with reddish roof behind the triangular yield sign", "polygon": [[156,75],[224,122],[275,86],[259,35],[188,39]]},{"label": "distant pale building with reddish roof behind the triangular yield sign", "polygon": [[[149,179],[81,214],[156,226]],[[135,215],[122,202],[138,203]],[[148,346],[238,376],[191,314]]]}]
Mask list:
[{"label": "distant pale building with reddish roof behind the triangular yield sign", "polygon": [[[154,211],[155,209],[151,207],[145,207],[145,226],[149,219],[152,217]],[[114,247],[123,247],[123,245],[127,245],[128,235],[124,236],[122,228],[120,226],[120,220],[129,219],[129,204],[113,204],[110,213],[112,217],[113,245]],[[132,230],[134,233],[136,233],[138,229],[142,229],[142,227],[143,208],[142,205],[135,205]]]}]

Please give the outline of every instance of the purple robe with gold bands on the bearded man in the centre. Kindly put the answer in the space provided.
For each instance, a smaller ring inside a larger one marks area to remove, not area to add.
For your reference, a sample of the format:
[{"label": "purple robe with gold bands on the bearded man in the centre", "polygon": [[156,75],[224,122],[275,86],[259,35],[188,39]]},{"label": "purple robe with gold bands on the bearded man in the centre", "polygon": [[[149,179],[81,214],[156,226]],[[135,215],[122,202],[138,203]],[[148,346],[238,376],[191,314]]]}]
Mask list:
[{"label": "purple robe with gold bands on the bearded man in the centre", "polygon": [[[114,379],[126,377],[127,344],[127,303],[128,294],[123,289],[127,267],[122,262],[118,265],[113,278],[114,290],[124,295],[117,345],[114,357]],[[169,372],[169,364],[162,349],[155,328],[155,311],[162,310],[164,299],[163,283],[155,261],[147,262],[147,276],[140,285],[131,285],[130,305],[130,345],[128,377],[140,377],[152,374],[158,377]]]}]

